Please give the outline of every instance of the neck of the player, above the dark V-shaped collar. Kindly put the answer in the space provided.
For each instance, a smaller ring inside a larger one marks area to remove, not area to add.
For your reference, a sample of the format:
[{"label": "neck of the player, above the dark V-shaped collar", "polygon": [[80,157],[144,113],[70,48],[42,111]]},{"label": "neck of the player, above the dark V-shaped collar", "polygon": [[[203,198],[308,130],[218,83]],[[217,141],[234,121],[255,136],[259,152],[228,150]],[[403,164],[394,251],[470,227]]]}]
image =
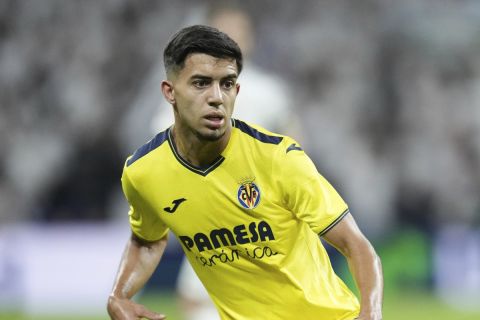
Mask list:
[{"label": "neck of the player, above the dark V-shaped collar", "polygon": [[214,162],[227,147],[231,128],[215,141],[201,139],[190,133],[185,134],[175,126],[172,128],[173,143],[180,156],[196,167],[208,166]]}]

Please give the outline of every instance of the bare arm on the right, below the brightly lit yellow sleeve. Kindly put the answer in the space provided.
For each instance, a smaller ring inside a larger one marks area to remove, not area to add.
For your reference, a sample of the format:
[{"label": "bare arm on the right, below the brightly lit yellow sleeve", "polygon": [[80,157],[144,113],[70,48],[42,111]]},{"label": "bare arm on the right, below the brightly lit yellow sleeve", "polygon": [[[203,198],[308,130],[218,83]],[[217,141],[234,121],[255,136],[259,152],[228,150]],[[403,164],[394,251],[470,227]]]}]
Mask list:
[{"label": "bare arm on the right, below the brightly lit yellow sleeve", "polygon": [[381,320],[383,275],[380,258],[358,228],[351,214],[345,216],[324,236],[347,259],[360,291],[359,320]]}]

